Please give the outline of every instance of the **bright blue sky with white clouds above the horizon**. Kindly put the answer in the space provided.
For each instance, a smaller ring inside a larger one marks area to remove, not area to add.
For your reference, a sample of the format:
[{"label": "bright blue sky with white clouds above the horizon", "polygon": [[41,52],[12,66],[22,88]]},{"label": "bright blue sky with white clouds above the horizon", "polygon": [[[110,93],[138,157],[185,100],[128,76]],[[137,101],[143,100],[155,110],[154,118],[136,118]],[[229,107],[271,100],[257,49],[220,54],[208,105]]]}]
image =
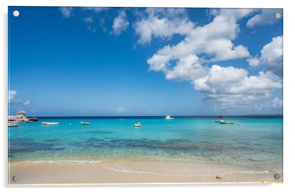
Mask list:
[{"label": "bright blue sky with white clouds above the horizon", "polygon": [[8,12],[10,114],[282,113],[281,9]]}]

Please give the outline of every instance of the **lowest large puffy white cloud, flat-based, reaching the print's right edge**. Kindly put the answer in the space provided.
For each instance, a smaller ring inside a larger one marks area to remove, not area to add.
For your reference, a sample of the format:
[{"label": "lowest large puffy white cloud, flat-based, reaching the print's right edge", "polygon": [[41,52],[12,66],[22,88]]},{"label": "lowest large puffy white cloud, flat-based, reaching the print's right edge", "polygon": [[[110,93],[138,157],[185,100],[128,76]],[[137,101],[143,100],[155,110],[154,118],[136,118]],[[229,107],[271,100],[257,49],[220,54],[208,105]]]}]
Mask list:
[{"label": "lowest large puffy white cloud, flat-based, reaching the print's right edge", "polygon": [[271,95],[282,87],[280,78],[272,72],[248,76],[245,69],[213,65],[209,73],[193,81],[195,89],[205,94],[205,99],[232,105],[249,103]]}]

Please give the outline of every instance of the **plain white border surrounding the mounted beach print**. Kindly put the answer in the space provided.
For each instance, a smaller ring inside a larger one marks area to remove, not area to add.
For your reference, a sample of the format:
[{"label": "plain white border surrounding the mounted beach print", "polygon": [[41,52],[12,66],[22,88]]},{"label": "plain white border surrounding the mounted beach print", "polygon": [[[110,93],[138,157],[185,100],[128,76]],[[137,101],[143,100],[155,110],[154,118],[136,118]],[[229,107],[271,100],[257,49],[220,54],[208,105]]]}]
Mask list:
[{"label": "plain white border surrounding the mounted beach print", "polygon": [[[98,188],[102,188],[105,191],[120,190],[123,192],[130,191],[142,191],[149,192],[150,190],[162,191],[169,190],[171,192],[178,192],[180,190],[196,191],[226,191],[226,192],[248,192],[250,190],[268,190],[268,192],[277,191],[291,191],[294,188],[294,173],[295,153],[293,146],[295,146],[295,127],[293,123],[293,113],[295,109],[295,61],[294,61],[294,18],[295,11],[294,6],[290,0],[1,0],[1,41],[0,46],[0,89],[1,89],[1,110],[0,110],[0,122],[1,122],[1,174],[0,181],[2,188],[13,188],[12,191],[18,190],[17,187],[11,187],[7,185],[7,6],[114,6],[114,7],[227,7],[227,8],[283,8],[284,9],[284,183],[283,184],[240,184],[240,185],[228,185],[228,184],[203,184],[203,185],[124,185],[124,186],[49,186],[46,189],[42,189],[45,192],[51,192],[52,189],[56,190],[71,190],[72,192],[80,192],[81,188],[88,188],[91,191],[97,191]],[[31,187],[25,187],[23,192],[40,191],[38,188],[45,188],[45,186],[36,186],[35,189]],[[70,189],[74,188],[74,189]],[[151,189],[152,188],[152,189]],[[4,189],[5,191],[7,189]]]}]

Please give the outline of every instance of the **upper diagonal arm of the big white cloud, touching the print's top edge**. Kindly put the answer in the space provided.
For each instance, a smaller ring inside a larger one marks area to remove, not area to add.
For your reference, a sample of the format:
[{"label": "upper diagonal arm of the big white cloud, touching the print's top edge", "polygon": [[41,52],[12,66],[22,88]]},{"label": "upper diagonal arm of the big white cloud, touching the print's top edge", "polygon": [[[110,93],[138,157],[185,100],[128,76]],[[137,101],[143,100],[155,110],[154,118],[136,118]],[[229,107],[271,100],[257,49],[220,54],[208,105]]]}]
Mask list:
[{"label": "upper diagonal arm of the big white cloud, touching the print's top edge", "polygon": [[167,45],[150,57],[148,59],[150,70],[162,71],[171,65],[171,61],[180,60],[191,54],[206,54],[210,57],[209,62],[249,57],[247,48],[243,45],[234,46],[232,40],[240,31],[236,22],[253,11],[255,10],[212,11],[215,18],[211,23],[191,28],[183,41],[176,45]]}]

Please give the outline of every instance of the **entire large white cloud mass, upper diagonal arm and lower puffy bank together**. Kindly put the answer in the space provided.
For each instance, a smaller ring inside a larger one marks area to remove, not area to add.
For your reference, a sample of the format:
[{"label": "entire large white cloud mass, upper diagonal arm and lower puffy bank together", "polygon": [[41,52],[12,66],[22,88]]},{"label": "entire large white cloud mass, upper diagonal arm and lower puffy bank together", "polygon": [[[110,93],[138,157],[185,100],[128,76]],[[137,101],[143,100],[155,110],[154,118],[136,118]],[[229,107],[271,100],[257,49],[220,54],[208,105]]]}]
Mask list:
[{"label": "entire large white cloud mass, upper diagonal arm and lower puffy bank together", "polygon": [[[210,14],[214,19],[211,23],[190,26],[190,30],[184,33],[184,40],[159,49],[147,60],[149,70],[164,72],[166,79],[190,81],[195,90],[204,93],[206,101],[218,103],[218,108],[250,104],[271,96],[274,89],[282,87],[281,78],[271,71],[248,75],[248,71],[242,68],[206,65],[250,57],[246,47],[234,45],[232,40],[240,31],[237,22],[255,12],[256,9],[212,9]],[[173,21],[169,17],[164,19]],[[190,21],[185,21],[190,25]],[[177,30],[170,33],[180,34]]]}]

